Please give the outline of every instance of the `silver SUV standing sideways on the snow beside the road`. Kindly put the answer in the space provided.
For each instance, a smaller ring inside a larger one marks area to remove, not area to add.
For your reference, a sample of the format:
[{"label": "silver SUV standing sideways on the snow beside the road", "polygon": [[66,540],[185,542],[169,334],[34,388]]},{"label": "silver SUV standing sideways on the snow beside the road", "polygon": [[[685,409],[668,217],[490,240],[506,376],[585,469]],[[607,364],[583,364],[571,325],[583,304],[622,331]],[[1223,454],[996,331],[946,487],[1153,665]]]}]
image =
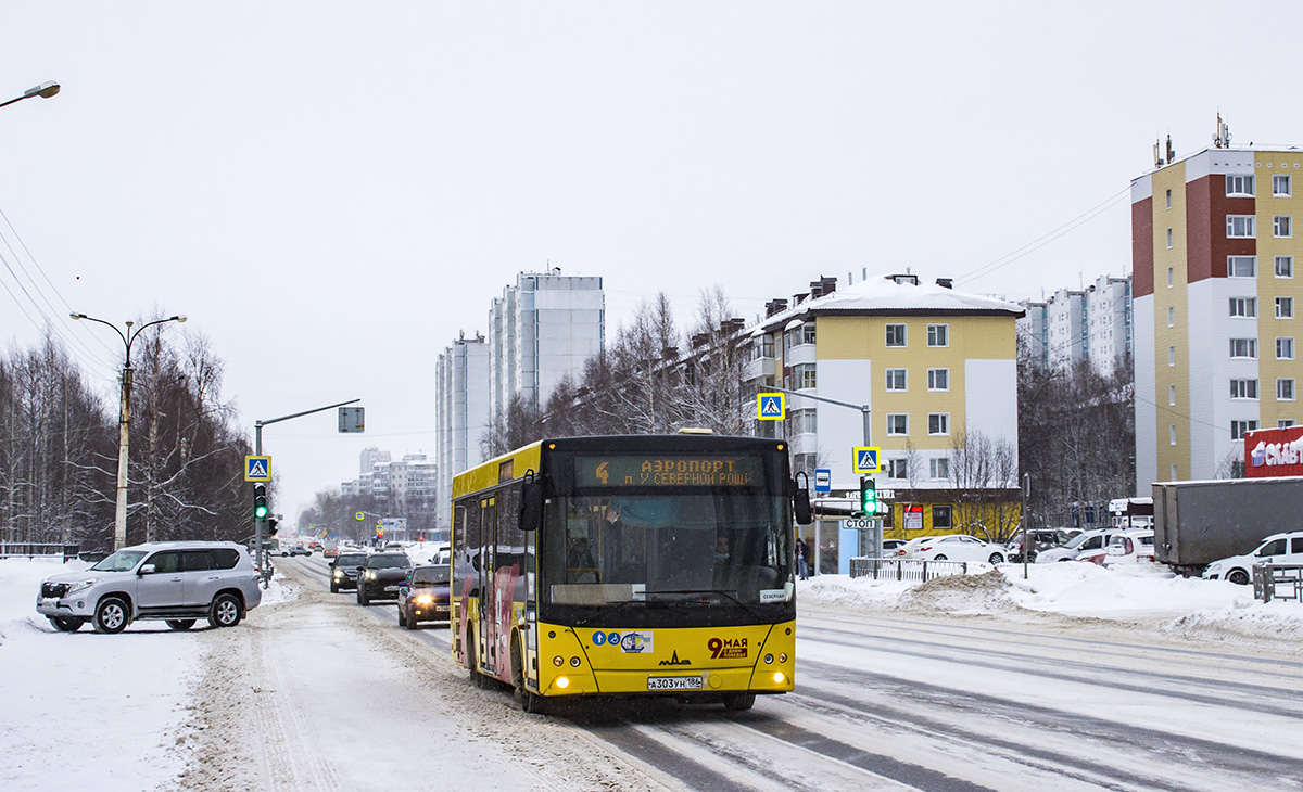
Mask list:
[{"label": "silver SUV standing sideways on the snow beside the road", "polygon": [[137,619],[163,619],[172,629],[190,629],[198,619],[235,627],[261,602],[258,574],[240,544],[156,542],[47,577],[36,612],[63,632],[90,621],[98,633],[120,633]]}]

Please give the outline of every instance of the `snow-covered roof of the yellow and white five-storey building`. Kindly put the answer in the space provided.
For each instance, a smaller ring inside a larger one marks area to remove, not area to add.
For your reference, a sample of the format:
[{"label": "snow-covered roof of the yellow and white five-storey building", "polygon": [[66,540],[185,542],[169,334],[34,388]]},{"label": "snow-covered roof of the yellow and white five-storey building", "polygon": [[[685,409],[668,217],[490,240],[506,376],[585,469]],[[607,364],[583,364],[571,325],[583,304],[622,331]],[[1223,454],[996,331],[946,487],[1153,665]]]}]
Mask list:
[{"label": "snow-covered roof of the yellow and white five-storey building", "polygon": [[[947,289],[920,279],[915,285],[902,277],[898,283],[893,276],[868,277],[857,284],[839,288],[831,294],[807,300],[773,317],[761,319],[756,330],[773,332],[779,327],[791,328],[796,318],[818,314],[959,314],[959,313],[1007,313],[1022,317],[1022,306],[1006,300],[984,297],[969,292]],[[748,331],[754,333],[754,331]]]}]

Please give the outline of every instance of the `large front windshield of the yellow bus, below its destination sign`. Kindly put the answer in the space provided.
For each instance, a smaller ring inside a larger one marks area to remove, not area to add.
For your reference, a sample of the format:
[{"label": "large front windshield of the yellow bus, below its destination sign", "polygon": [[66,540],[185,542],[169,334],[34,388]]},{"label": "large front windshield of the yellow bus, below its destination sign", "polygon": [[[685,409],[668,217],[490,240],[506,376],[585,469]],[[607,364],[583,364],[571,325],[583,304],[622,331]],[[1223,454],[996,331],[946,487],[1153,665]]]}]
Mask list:
[{"label": "large front windshield of the yellow bus, below its destination sign", "polygon": [[555,498],[543,597],[559,606],[787,602],[786,508],[754,490]]}]

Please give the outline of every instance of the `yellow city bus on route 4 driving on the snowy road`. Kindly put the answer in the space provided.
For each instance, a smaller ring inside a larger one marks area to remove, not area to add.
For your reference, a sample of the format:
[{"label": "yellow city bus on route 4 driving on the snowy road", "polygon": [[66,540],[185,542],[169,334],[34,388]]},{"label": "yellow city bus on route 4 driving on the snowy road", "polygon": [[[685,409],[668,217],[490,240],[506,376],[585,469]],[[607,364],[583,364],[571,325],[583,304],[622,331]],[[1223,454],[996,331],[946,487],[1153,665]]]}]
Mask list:
[{"label": "yellow city bus on route 4 driving on the snowy road", "polygon": [[539,713],[671,694],[749,709],[792,689],[794,509],[779,440],[556,438],[453,478],[452,654]]}]

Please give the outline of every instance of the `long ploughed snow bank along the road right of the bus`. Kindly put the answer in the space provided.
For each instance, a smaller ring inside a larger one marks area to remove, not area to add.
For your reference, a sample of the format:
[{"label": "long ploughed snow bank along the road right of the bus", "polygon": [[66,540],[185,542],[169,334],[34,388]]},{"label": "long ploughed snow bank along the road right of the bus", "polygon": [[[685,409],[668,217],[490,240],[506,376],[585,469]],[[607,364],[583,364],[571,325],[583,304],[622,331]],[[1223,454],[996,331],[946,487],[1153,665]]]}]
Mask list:
[{"label": "long ploughed snow bank along the road right of the bus", "polygon": [[926,584],[821,574],[800,581],[801,603],[861,611],[998,615],[1035,611],[1136,624],[1169,634],[1217,640],[1303,638],[1303,603],[1253,599],[1248,586],[1178,577],[1152,564],[1007,564]]}]

